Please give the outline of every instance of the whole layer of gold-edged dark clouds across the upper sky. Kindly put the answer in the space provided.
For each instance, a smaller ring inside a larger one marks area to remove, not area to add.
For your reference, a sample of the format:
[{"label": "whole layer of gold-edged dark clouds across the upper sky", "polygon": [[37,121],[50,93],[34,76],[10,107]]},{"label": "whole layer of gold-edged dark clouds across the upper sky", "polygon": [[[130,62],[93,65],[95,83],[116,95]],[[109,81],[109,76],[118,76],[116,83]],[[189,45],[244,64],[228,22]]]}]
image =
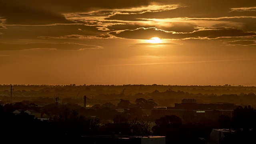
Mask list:
[{"label": "whole layer of gold-edged dark clouds across the upper sky", "polygon": [[[60,39],[249,40],[256,1],[2,0],[0,38],[56,43]],[[227,40],[226,42],[232,41]],[[1,41],[0,41],[1,42]],[[3,41],[2,41],[3,42]]]}]

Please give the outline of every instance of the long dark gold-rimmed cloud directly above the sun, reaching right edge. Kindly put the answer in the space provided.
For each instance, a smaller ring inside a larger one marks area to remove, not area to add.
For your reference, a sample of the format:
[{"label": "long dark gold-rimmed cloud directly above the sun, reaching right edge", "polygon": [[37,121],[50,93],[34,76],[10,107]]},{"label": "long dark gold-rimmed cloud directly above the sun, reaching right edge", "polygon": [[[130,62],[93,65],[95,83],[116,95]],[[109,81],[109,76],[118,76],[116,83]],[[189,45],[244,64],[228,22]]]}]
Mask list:
[{"label": "long dark gold-rimmed cloud directly above the sun, reaching right edge", "polygon": [[207,28],[198,27],[194,32],[171,32],[159,30],[157,28],[138,28],[135,30],[120,30],[109,32],[119,38],[128,39],[150,39],[153,37],[166,38],[166,39],[217,39],[227,37],[248,37],[256,36],[256,32],[244,32],[236,28]]}]

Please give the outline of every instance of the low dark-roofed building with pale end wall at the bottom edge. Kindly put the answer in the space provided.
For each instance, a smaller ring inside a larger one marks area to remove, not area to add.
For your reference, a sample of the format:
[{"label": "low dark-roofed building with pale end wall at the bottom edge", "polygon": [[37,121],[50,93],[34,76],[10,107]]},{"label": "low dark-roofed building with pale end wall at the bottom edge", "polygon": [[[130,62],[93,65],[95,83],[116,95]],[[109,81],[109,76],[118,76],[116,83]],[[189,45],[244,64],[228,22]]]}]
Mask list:
[{"label": "low dark-roofed building with pale end wall at the bottom edge", "polygon": [[86,144],[165,144],[165,136],[82,136]]}]

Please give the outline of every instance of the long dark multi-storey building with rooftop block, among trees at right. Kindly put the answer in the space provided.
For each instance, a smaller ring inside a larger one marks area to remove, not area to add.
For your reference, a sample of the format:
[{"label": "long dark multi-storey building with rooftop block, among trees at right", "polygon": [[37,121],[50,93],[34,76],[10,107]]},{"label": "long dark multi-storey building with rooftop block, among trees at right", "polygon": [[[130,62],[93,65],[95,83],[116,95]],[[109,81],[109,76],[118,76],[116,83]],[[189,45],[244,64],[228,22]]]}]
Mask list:
[{"label": "long dark multi-storey building with rooftop block, among trees at right", "polygon": [[174,107],[157,107],[152,109],[154,118],[165,115],[175,115],[184,120],[186,116],[194,116],[197,119],[211,117],[214,114],[227,115],[232,118],[234,109],[238,106],[230,103],[205,104],[197,103],[195,99],[183,99],[182,103],[176,103]]}]

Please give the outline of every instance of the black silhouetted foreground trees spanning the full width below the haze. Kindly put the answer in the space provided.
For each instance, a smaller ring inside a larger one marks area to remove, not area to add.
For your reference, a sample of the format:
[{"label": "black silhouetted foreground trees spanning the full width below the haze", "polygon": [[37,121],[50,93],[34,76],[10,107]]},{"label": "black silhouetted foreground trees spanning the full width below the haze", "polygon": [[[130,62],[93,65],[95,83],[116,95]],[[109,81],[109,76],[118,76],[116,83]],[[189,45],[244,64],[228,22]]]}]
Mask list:
[{"label": "black silhouetted foreground trees spanning the full width below the haze", "polygon": [[[153,127],[146,121],[143,122],[132,117],[134,115],[131,113],[136,114],[136,107],[130,108],[130,112],[116,112],[111,116],[112,118],[102,116],[102,118],[106,118],[105,120],[111,119],[105,122],[102,122],[103,119],[98,116],[94,117],[91,114],[96,113],[97,110],[103,113],[112,113],[116,107],[109,103],[95,106],[95,109],[85,109],[72,104],[48,105],[42,108],[42,111],[48,112],[49,115],[51,111],[51,117],[48,121],[40,121],[24,112],[16,115],[11,112],[13,109],[21,107],[24,105],[0,105],[2,140],[8,140],[9,143],[35,143],[34,139],[36,139],[38,140],[36,143],[76,144],[79,142],[80,136],[117,134],[159,135],[166,136],[168,144],[198,144],[200,142],[199,137],[209,139],[212,129],[227,128],[236,130],[234,134],[223,140],[223,142],[231,144],[253,140],[256,134],[256,110],[251,106],[238,107],[234,110],[233,118],[225,115],[212,115],[211,118],[202,118],[199,122],[182,122],[177,116],[164,116],[157,119]],[[30,106],[30,108],[32,107]],[[89,112],[90,110],[91,112]]]}]

